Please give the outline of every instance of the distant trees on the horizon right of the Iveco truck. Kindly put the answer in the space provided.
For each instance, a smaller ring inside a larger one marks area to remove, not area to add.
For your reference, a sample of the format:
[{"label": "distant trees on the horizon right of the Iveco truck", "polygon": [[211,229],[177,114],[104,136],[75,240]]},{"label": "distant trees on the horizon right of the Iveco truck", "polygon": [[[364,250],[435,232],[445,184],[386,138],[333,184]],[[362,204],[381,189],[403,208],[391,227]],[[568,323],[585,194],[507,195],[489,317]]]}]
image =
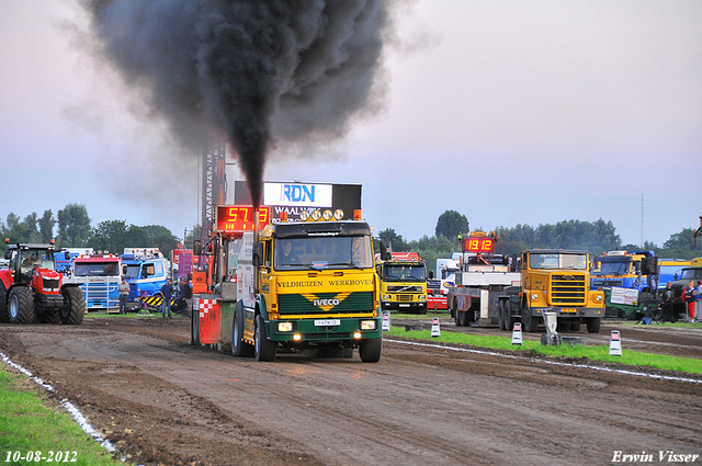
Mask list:
[{"label": "distant trees on the horizon right of the Iveco truck", "polygon": [[[467,237],[468,219],[456,211],[446,211],[437,220],[434,235],[424,235],[418,240],[407,241],[394,228],[386,228],[376,238],[375,250],[378,251],[381,241],[389,241],[393,251],[415,251],[427,261],[429,270],[433,270],[437,259],[451,258],[453,252],[461,252],[458,236]],[[497,226],[486,231],[494,231],[498,241],[495,252],[518,255],[528,249],[578,249],[586,250],[593,255],[604,251],[654,251],[659,258],[693,259],[702,257],[702,240],[694,243],[694,230],[683,228],[673,234],[663,245],[646,241],[639,245],[623,245],[612,221],[598,219],[597,221],[563,220],[555,225],[545,224],[536,227],[517,225],[514,227]]]}]

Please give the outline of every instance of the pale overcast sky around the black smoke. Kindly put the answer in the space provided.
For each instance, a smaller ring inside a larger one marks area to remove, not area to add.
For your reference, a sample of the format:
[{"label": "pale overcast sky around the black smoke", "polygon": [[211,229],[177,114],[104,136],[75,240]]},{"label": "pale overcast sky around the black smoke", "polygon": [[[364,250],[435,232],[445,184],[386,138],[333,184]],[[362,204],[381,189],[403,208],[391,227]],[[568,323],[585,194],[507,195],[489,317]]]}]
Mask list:
[{"label": "pale overcast sky around the black smoke", "polygon": [[[267,180],[362,184],[365,218],[407,240],[448,209],[484,229],[602,218],[624,243],[642,219],[658,246],[698,227],[701,1],[408,4],[384,110],[321,157],[276,147]],[[0,218],[78,203],[93,226],[182,237],[200,223],[201,155],[135,109],[76,24],[76,1],[0,2]]]}]

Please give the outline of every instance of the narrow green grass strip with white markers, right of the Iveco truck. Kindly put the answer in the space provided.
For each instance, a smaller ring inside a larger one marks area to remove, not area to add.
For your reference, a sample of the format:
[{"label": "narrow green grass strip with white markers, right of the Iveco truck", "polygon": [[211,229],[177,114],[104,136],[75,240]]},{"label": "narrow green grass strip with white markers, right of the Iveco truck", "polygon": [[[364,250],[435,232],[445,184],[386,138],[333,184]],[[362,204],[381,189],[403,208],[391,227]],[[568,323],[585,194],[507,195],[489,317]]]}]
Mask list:
[{"label": "narrow green grass strip with white markers, right of the Iveco truck", "polygon": [[[427,316],[424,316],[426,318]],[[507,350],[520,352],[533,352],[554,357],[587,357],[592,361],[603,361],[622,365],[653,367],[665,371],[677,371],[689,374],[702,374],[702,361],[693,357],[676,357],[664,354],[642,353],[622,349],[621,356],[609,354],[609,344],[599,344],[595,346],[584,346],[581,344],[570,346],[562,344],[558,346],[542,345],[540,341],[523,341],[523,345],[512,345],[510,337],[497,336],[473,336],[456,332],[441,332],[440,337],[431,337],[431,330],[410,330],[398,326],[392,327],[385,334],[392,337],[405,337],[417,340],[427,340],[431,342],[445,342],[453,344],[465,344],[471,346],[487,348],[494,350]]]}]

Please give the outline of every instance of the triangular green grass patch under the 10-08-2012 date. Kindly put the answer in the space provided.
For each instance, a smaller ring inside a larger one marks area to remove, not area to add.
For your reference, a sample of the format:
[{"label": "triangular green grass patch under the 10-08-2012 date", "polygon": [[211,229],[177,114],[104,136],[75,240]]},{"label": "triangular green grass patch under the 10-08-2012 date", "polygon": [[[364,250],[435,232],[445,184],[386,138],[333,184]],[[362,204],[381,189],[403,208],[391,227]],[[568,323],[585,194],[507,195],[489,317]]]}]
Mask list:
[{"label": "triangular green grass patch under the 10-08-2012 date", "polygon": [[86,434],[70,414],[52,407],[43,394],[23,389],[22,378],[26,380],[26,376],[0,367],[1,464],[115,464],[112,455]]}]

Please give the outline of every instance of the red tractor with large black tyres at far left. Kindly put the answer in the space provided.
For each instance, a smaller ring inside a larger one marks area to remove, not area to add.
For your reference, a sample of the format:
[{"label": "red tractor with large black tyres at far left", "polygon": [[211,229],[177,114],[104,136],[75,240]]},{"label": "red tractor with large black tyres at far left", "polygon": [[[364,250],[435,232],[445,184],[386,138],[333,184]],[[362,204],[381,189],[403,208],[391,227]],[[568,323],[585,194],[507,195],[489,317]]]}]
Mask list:
[{"label": "red tractor with large black tyres at far left", "polygon": [[10,245],[0,270],[0,322],[80,325],[86,297],[77,284],[65,284],[56,272],[54,241],[50,245]]}]

